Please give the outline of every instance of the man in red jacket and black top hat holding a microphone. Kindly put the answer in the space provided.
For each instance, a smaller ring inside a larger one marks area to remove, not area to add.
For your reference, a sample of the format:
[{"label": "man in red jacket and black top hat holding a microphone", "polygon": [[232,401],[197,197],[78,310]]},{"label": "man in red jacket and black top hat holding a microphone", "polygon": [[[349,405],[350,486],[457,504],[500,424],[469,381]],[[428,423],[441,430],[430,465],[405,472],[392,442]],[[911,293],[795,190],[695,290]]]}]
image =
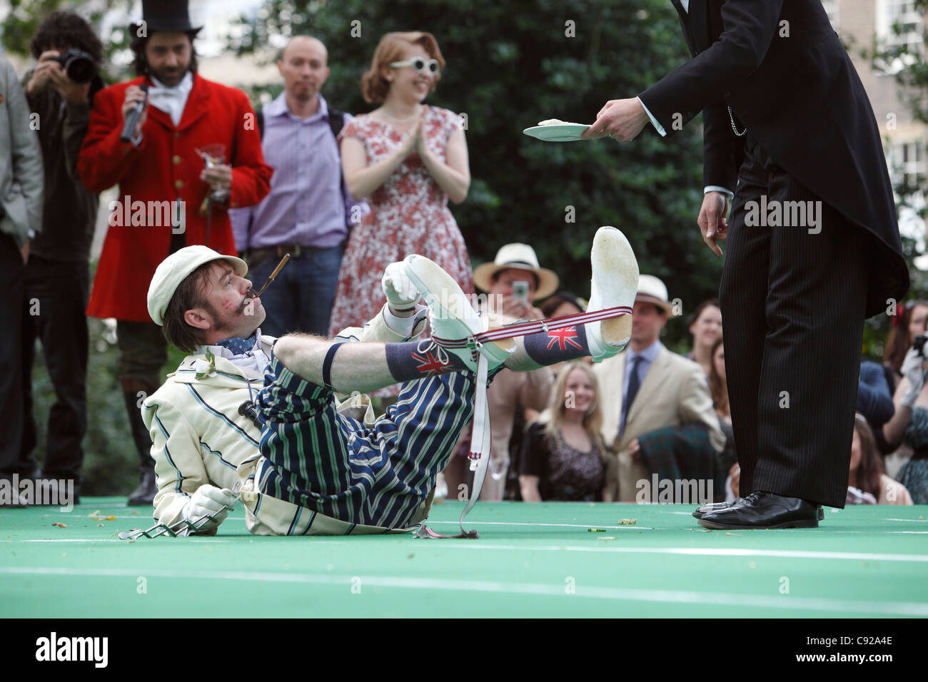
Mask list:
[{"label": "man in red jacket and black top hat holding a microphone", "polygon": [[[91,191],[119,185],[87,315],[117,320],[117,371],[141,461],[129,504],[150,505],[155,476],[139,405],[161,385],[167,344],[148,316],[148,284],[168,254],[207,244],[201,208],[211,189],[225,198],[213,203],[207,246],[234,254],[226,209],[264,199],[273,169],[264,163],[248,97],[197,74],[193,39],[200,28],[190,25],[187,0],[143,1],[142,13],[130,25],[139,77],[97,93],[78,172]],[[143,84],[148,102],[132,141],[122,142],[126,118],[145,98]],[[207,145],[222,145],[225,156],[208,170],[197,152]]]}]

